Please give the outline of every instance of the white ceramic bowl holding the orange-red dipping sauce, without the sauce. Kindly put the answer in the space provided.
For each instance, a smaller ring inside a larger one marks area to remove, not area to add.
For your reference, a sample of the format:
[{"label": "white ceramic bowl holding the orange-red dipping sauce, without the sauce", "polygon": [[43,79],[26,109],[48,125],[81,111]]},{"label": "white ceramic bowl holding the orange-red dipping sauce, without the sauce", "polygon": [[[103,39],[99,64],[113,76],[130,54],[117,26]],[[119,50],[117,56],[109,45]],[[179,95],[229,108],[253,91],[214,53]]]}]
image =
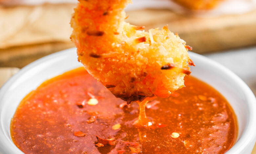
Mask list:
[{"label": "white ceramic bowl holding the orange-red dipping sauce, without the sauce", "polygon": [[[222,93],[237,115],[237,142],[226,154],[250,154],[256,140],[254,94],[227,68],[199,54],[190,52],[189,55],[196,64],[191,67],[191,75]],[[11,141],[10,122],[23,97],[45,80],[80,66],[75,48],[60,51],[22,68],[0,89],[0,153],[22,153]]]}]

